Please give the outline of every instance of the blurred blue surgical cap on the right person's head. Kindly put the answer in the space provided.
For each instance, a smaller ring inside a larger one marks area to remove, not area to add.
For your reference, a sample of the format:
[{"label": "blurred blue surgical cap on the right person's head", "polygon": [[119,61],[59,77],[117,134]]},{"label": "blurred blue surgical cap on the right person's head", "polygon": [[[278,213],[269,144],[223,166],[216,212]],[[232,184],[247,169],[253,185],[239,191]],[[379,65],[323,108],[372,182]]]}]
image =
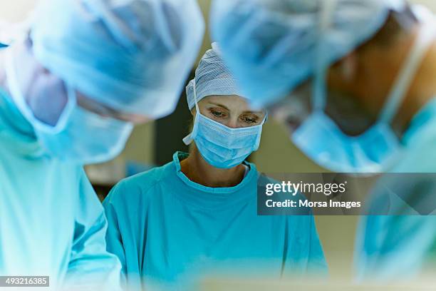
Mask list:
[{"label": "blurred blue surgical cap on the right person's head", "polygon": [[242,93],[265,106],[312,76],[320,54],[327,64],[338,61],[370,39],[391,9],[404,6],[403,0],[216,0],[212,34]]}]

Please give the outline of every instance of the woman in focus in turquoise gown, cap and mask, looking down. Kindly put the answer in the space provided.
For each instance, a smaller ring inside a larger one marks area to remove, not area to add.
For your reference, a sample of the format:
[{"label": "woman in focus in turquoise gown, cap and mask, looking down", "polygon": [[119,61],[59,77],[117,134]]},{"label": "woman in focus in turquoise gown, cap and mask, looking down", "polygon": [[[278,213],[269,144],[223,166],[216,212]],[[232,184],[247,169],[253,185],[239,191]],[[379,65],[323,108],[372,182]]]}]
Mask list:
[{"label": "woman in focus in turquoise gown, cap and mask, looking down", "polygon": [[250,110],[213,47],[187,86],[190,153],[122,180],[103,203],[108,250],[120,258],[129,290],[193,290],[201,275],[230,272],[326,270],[313,216],[256,214],[266,177],[245,159],[259,147],[266,113]]}]

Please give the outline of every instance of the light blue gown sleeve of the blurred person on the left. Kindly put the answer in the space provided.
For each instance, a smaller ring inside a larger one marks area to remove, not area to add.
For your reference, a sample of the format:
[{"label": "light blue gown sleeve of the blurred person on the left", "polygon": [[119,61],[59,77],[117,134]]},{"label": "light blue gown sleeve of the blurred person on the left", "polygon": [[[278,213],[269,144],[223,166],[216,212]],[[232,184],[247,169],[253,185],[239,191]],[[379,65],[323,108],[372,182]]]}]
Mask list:
[{"label": "light blue gown sleeve of the blurred person on the left", "polygon": [[120,290],[120,262],[106,250],[108,226],[103,207],[83,169],[73,245],[66,274],[66,290]]}]

